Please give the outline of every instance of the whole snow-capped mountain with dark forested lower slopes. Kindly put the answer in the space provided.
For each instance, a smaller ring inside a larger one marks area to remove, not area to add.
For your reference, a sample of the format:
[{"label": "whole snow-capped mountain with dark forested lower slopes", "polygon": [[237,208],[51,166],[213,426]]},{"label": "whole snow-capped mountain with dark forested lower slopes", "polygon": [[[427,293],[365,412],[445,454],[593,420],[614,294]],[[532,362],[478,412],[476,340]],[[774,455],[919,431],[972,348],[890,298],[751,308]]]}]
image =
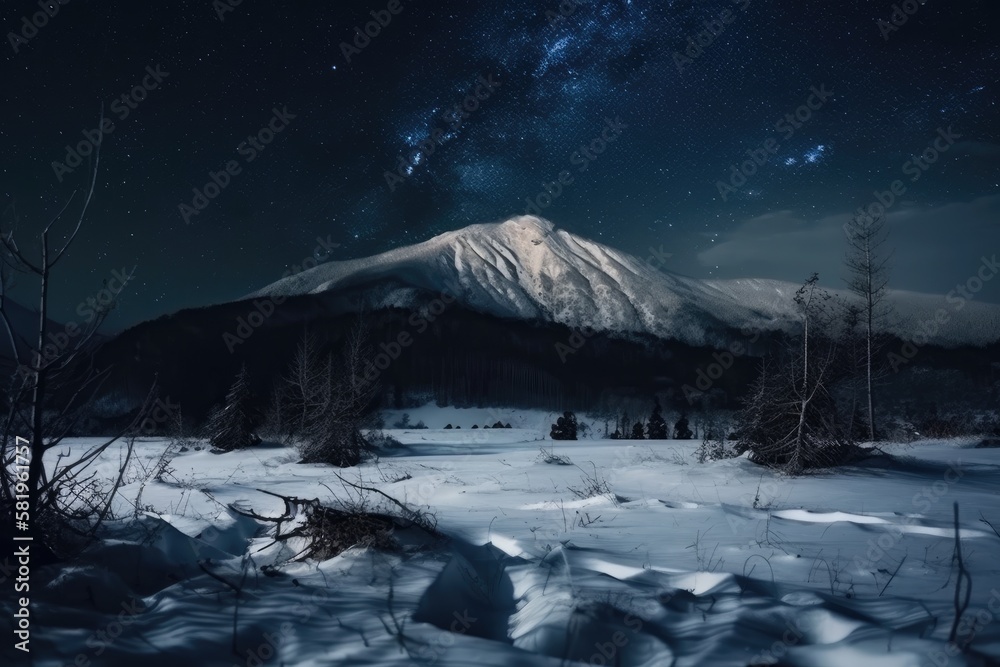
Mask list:
[{"label": "whole snow-capped mountain with dark forested lower slopes", "polygon": [[[622,397],[657,393],[665,407],[683,411],[691,407],[684,388],[697,385],[705,406],[732,408],[780,338],[772,332],[796,326],[798,287],[657,270],[530,216],[473,225],[129,328],[95,359],[110,369],[98,417],[125,415],[155,383],[200,423],[244,363],[266,401],[306,330],[324,353],[339,355],[359,319],[373,354],[365,377],[377,381],[386,406],[433,400],[605,410]],[[891,330],[902,339],[951,306],[942,296],[892,296],[900,317]],[[913,362],[892,375],[901,388],[893,392],[919,388],[922,401],[959,397],[966,406],[992,400],[998,311],[973,302],[950,308],[950,321],[931,338],[937,344],[921,343],[919,356],[908,355]],[[748,337],[745,327],[763,335]],[[720,358],[726,348],[733,353]],[[902,351],[902,341],[888,349]]]}]

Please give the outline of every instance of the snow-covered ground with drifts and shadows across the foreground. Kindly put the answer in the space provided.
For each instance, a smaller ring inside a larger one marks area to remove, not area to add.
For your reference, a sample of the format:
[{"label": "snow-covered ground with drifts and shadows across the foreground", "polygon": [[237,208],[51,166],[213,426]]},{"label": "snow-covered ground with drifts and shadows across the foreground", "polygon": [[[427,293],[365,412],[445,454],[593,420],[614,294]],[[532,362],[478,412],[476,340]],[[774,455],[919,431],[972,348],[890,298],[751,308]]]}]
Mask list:
[{"label": "snow-covered ground with drifts and shadows across the foreground", "polygon": [[[141,491],[139,525],[33,573],[33,660],[4,629],[0,664],[1000,664],[947,645],[958,502],[973,584],[959,638],[1000,657],[1000,537],[981,520],[1000,528],[1000,449],[893,445],[892,466],[789,479],[698,464],[693,441],[542,443],[550,415],[486,412],[411,411],[462,429],[387,431],[405,447],[344,472],[433,512],[446,542],[276,574],[263,566],[289,549],[226,505],[347,498],[330,469],[277,446],[180,454],[164,481],[123,490],[127,515]],[[498,418],[520,428],[469,430]],[[576,465],[543,462],[542,444]],[[140,461],[163,448],[141,442]],[[587,477],[611,493],[578,497]]]}]

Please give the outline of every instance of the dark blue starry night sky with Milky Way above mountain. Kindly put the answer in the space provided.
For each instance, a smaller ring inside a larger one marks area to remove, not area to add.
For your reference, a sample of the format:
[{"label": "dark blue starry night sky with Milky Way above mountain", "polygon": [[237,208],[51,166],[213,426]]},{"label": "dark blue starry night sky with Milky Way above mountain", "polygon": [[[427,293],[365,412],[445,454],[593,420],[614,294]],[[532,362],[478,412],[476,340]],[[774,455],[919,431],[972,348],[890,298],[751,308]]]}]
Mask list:
[{"label": "dark blue starry night sky with Milky Way above mountain", "polygon": [[3,228],[30,245],[86,188],[67,146],[103,105],[64,319],[124,267],[118,328],[274,282],[318,237],[347,259],[524,213],[564,171],[542,211],[559,228],[688,275],[830,286],[841,226],[898,179],[892,282],[943,294],[1000,251],[1000,7],[911,1],[896,26],[873,0],[69,0],[32,30],[37,3],[9,0]]}]

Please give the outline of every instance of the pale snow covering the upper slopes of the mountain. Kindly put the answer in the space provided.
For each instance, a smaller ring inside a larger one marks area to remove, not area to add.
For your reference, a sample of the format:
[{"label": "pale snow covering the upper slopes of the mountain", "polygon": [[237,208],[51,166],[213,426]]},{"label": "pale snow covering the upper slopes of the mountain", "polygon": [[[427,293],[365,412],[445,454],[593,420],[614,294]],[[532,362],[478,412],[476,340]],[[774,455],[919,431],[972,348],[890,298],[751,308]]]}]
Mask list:
[{"label": "pale snow covering the upper slopes of the mountain", "polygon": [[[499,317],[541,319],[570,327],[646,333],[692,345],[723,343],[728,328],[794,326],[797,285],[773,280],[699,280],[658,270],[534,216],[471,225],[374,257],[327,262],[251,295],[318,294],[391,285],[371,306],[408,307],[413,288],[454,296]],[[956,310],[944,297],[897,293],[893,333],[910,338],[946,308],[950,321],[931,339],[984,344],[1000,338],[1000,307],[970,302]]]}]

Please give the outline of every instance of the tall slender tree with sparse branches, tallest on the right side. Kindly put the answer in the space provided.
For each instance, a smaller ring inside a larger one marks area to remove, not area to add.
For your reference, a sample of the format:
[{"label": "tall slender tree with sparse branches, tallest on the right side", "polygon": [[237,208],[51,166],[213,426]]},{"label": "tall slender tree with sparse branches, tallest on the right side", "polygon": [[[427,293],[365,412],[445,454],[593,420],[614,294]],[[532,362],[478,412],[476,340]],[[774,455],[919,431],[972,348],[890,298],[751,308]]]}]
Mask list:
[{"label": "tall slender tree with sparse branches, tallest on the right side", "polygon": [[845,227],[849,271],[847,287],[862,302],[860,323],[865,341],[865,395],[868,403],[868,438],[875,440],[874,384],[880,374],[876,358],[880,348],[879,331],[892,309],[886,300],[889,285],[889,260],[892,253],[885,248],[888,226],[885,214],[855,216]]}]

